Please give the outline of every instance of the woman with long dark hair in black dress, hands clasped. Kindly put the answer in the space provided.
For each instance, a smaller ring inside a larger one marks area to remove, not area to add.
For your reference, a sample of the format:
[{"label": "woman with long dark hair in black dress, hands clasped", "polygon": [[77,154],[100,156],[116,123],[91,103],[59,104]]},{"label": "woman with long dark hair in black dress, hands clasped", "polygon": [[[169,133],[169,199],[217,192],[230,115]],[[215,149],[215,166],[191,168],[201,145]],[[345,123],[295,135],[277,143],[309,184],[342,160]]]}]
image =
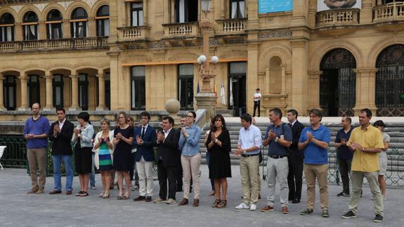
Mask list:
[{"label": "woman with long dark hair in black dress, hands clasped", "polygon": [[[206,146],[211,157],[209,162],[209,178],[214,179],[216,200],[213,207],[223,208],[227,205],[227,177],[231,177],[230,166],[230,134],[222,115],[216,115],[212,121],[213,129],[207,138]],[[222,196],[220,196],[220,189]]]}]

